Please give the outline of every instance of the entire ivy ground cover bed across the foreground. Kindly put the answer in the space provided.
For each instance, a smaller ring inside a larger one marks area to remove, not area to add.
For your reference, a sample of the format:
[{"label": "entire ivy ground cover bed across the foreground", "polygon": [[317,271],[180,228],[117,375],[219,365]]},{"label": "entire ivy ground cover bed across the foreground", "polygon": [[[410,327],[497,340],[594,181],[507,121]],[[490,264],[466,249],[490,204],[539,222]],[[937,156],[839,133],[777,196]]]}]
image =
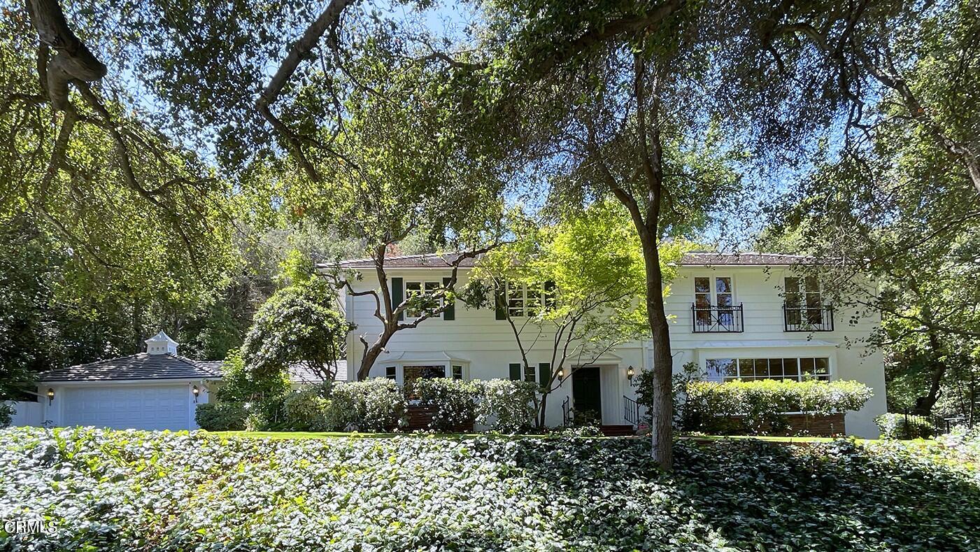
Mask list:
[{"label": "entire ivy ground cover bed across the foreground", "polygon": [[980,548],[969,455],[678,441],[662,475],[647,447],[3,429],[0,549]]}]

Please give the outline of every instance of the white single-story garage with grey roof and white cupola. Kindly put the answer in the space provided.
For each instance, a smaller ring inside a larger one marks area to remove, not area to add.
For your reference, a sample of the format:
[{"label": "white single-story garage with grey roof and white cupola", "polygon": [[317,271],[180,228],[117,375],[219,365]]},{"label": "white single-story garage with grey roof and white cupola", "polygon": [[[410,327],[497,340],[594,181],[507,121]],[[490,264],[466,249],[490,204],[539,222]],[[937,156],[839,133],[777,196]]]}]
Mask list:
[{"label": "white single-story garage with grey roof and white cupola", "polygon": [[176,354],[161,331],[145,353],[44,373],[38,384],[42,423],[116,429],[195,429],[194,411],[208,402],[207,382],[220,379],[215,363]]}]

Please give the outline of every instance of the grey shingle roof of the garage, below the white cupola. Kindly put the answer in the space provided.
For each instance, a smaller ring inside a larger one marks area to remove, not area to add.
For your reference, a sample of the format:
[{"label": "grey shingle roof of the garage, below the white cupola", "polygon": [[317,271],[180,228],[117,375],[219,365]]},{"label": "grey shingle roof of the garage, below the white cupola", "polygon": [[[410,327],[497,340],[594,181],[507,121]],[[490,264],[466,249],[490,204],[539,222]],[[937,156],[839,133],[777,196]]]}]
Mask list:
[{"label": "grey shingle roof of the garage, below the white cupola", "polygon": [[110,381],[119,379],[199,379],[219,376],[200,363],[176,355],[138,353],[79,364],[40,375],[41,381]]}]

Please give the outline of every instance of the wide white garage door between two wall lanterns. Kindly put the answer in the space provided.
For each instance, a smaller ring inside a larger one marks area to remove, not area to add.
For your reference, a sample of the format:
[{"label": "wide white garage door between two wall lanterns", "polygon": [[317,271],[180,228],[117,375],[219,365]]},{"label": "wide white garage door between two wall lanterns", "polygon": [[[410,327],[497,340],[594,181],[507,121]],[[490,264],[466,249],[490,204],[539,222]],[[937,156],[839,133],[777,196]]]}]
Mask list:
[{"label": "wide white garage door between two wall lanterns", "polygon": [[187,385],[113,385],[65,389],[65,426],[188,429]]}]

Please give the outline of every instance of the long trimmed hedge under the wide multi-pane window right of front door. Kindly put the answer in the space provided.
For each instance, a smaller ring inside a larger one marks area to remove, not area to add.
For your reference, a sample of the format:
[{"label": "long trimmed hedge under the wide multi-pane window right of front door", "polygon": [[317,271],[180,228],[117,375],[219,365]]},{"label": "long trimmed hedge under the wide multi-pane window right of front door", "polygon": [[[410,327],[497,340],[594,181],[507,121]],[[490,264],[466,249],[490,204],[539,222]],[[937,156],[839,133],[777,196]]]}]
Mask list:
[{"label": "long trimmed hedge under the wide multi-pane window right of front door", "polygon": [[685,410],[693,427],[683,428],[718,433],[778,433],[789,427],[787,412],[826,416],[858,410],[871,395],[870,387],[851,380],[690,381]]}]

